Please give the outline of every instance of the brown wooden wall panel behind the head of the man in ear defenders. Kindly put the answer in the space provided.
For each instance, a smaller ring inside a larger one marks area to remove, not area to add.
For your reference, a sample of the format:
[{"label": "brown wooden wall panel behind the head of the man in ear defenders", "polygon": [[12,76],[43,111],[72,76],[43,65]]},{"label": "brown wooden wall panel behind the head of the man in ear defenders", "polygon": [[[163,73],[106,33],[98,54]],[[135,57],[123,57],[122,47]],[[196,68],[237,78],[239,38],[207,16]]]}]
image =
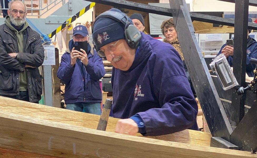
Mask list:
[{"label": "brown wooden wall panel behind the head of the man in ear defenders", "polygon": [[[129,0],[129,1],[131,1],[131,0]],[[148,0],[148,1],[132,0],[131,2],[148,4],[148,3],[159,3],[159,0]],[[96,6],[95,6],[95,14],[96,14],[96,16],[98,16],[101,13],[103,13],[103,12],[105,12],[105,11],[111,9],[111,8],[113,8],[113,7],[97,3]],[[149,14],[148,13],[134,11],[134,10],[131,10],[131,9],[124,9],[124,11],[125,12],[128,11],[128,13],[126,13],[128,16],[131,16],[134,13],[140,13],[140,14],[142,14],[142,16],[145,16],[145,18],[144,18],[144,20],[145,20],[145,31],[150,34]]]}]

